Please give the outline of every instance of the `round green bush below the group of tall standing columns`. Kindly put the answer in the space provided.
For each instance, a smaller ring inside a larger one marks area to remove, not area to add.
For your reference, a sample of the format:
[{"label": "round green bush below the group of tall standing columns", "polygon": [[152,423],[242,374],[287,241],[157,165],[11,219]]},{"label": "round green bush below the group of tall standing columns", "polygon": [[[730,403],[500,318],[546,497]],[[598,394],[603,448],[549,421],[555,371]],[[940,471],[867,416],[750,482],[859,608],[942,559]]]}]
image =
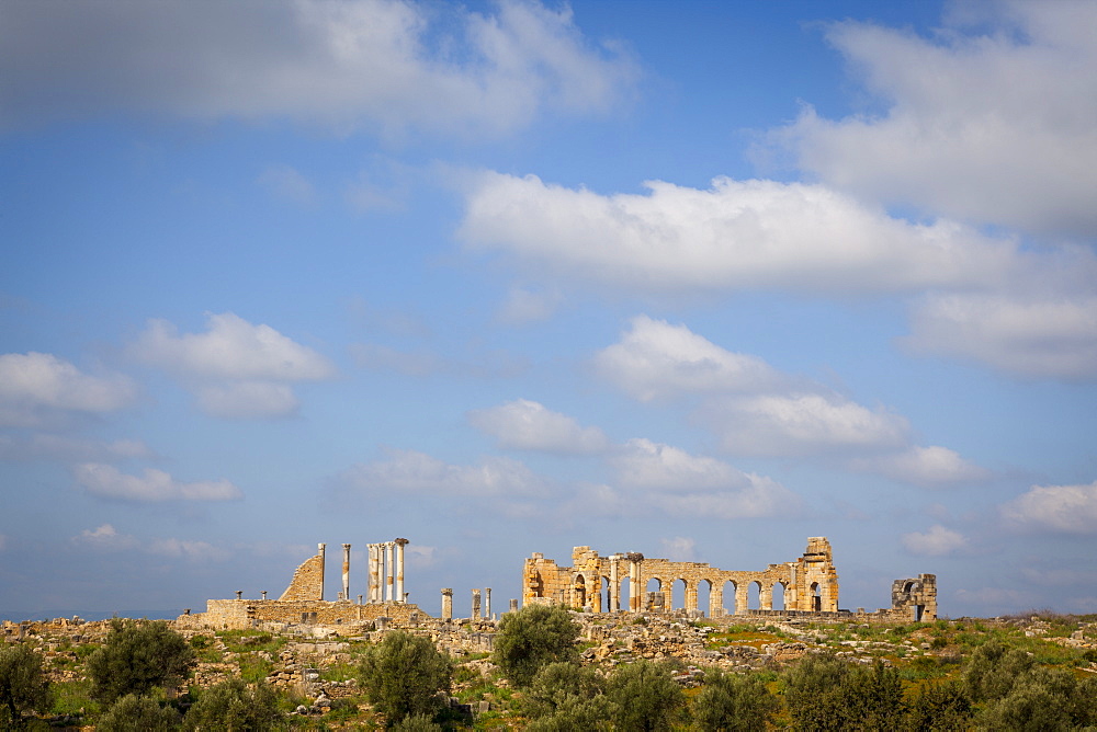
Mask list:
[{"label": "round green bush below the group of tall standing columns", "polygon": [[359,666],[359,682],[389,725],[442,709],[440,691],[449,691],[453,664],[429,638],[403,631],[387,633]]}]

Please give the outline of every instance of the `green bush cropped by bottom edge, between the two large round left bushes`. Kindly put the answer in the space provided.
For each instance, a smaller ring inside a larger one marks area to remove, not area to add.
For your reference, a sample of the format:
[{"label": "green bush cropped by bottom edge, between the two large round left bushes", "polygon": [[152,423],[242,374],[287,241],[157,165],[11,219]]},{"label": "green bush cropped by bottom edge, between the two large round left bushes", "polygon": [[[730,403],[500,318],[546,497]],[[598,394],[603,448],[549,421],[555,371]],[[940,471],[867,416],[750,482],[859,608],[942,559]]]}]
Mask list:
[{"label": "green bush cropped by bottom edge, between the two large round left bushes", "polygon": [[267,684],[249,687],[239,678],[211,686],[183,718],[184,730],[263,732],[285,727],[274,690]]}]

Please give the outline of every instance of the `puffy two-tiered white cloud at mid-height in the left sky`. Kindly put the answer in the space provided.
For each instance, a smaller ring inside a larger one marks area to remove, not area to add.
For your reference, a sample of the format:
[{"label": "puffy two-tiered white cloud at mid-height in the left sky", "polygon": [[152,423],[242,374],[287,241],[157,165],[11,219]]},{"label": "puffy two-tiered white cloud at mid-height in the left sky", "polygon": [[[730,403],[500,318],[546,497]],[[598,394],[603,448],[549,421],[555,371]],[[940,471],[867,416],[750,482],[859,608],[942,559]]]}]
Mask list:
[{"label": "puffy two-tiered white cloud at mid-height in the left sky", "polygon": [[207,316],[204,333],[180,335],[166,320],[150,320],[129,347],[134,358],[172,374],[207,414],[276,418],[297,410],[290,385],[335,376],[331,363],[270,325],[231,312]]}]

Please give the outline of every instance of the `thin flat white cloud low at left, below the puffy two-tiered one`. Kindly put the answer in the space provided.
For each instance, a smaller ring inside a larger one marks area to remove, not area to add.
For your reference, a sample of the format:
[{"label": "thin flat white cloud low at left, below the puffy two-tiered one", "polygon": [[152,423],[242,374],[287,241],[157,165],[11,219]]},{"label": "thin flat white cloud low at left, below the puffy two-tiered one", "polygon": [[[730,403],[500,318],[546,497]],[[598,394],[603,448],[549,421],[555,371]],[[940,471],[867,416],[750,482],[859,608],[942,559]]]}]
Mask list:
[{"label": "thin flat white cloud low at left, below the puffy two-tiered one", "polygon": [[181,483],[162,470],[146,468],[142,476],[128,476],[110,465],[84,462],[73,469],[77,482],[92,495],[140,503],[161,501],[233,501],[244,494],[222,479]]}]

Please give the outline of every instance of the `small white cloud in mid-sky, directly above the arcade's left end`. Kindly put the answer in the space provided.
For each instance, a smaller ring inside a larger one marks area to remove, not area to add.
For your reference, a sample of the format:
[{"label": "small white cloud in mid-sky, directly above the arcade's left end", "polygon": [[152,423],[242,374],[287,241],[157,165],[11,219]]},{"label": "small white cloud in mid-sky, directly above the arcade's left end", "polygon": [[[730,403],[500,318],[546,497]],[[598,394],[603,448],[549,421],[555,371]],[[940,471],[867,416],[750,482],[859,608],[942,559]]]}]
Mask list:
[{"label": "small white cloud in mid-sky, directly above the arcade's left end", "polygon": [[499,447],[507,449],[590,455],[609,447],[609,441],[598,427],[583,427],[572,418],[528,399],[472,411],[468,422],[494,436]]}]

